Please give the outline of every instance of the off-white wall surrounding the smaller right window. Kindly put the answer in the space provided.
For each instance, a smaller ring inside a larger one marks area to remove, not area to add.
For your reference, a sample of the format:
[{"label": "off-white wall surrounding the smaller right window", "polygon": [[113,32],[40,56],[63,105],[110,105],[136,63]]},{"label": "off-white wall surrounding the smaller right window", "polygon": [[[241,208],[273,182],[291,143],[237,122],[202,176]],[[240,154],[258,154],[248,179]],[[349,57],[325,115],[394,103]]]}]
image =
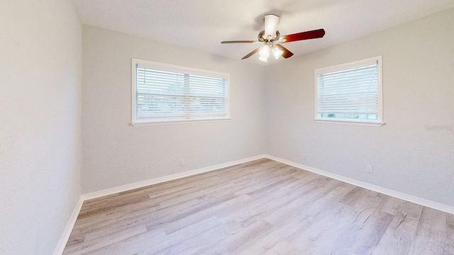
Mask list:
[{"label": "off-white wall surrounding the smaller right window", "polygon": [[[451,9],[266,67],[267,154],[454,205],[454,132],[426,131],[454,127],[453,24]],[[387,124],[314,123],[314,69],[377,55]]]}]

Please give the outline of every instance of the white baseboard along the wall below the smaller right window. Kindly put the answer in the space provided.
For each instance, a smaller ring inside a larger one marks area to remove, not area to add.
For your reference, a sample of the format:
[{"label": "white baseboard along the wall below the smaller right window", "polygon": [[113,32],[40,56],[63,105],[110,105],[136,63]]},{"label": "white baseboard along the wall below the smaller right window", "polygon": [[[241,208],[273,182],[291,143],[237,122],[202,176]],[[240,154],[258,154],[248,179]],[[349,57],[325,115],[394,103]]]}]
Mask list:
[{"label": "white baseboard along the wall below the smaller right window", "polygon": [[367,189],[369,189],[371,191],[376,191],[376,192],[379,192],[379,193],[383,193],[384,195],[387,195],[387,196],[392,196],[394,198],[399,198],[399,199],[402,199],[402,200],[406,200],[406,201],[409,201],[411,203],[416,203],[418,205],[426,206],[428,208],[433,208],[435,210],[441,210],[442,212],[448,212],[450,214],[454,214],[454,207],[450,206],[450,205],[445,205],[445,204],[442,204],[442,203],[434,202],[432,200],[427,200],[427,199],[424,199],[424,198],[411,196],[411,195],[406,194],[406,193],[402,193],[402,192],[399,192],[399,191],[394,191],[394,190],[389,189],[389,188],[383,188],[383,187],[380,187],[380,186],[377,186],[377,185],[374,185],[374,184],[371,184],[371,183],[366,183],[364,181],[358,181],[358,180],[355,180],[355,179],[350,179],[348,177],[341,176],[341,175],[338,175],[338,174],[333,174],[333,173],[330,173],[330,172],[327,172],[327,171],[323,171],[323,170],[320,170],[320,169],[316,169],[316,168],[311,167],[311,166],[305,166],[304,164],[291,162],[291,161],[289,161],[287,159],[281,159],[279,157],[274,157],[274,156],[267,155],[267,154],[265,154],[265,157],[267,159],[272,159],[274,161],[281,162],[283,164],[288,164],[289,166],[294,166],[294,167],[297,167],[299,169],[303,169],[303,170],[306,170],[306,171],[311,171],[314,174],[320,174],[322,176],[326,176],[326,177],[329,177],[329,178],[332,178],[332,179],[336,179],[338,181],[343,181],[345,183],[350,183],[352,185],[355,185],[355,186],[358,186],[358,187],[361,187],[361,188],[367,188]]}]

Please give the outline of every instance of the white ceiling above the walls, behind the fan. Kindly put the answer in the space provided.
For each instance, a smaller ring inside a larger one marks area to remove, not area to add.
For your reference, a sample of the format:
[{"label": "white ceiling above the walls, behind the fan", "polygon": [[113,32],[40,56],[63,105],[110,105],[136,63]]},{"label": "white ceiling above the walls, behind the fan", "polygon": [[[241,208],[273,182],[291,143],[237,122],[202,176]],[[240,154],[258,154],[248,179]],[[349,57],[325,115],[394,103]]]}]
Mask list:
[{"label": "white ceiling above the walls, behind the fan", "polygon": [[[323,38],[284,45],[303,55],[454,7],[454,0],[74,1],[84,24],[238,60],[260,45],[220,42],[256,40],[266,13],[281,17],[281,35],[326,30]],[[243,61],[261,63],[258,55]]]}]

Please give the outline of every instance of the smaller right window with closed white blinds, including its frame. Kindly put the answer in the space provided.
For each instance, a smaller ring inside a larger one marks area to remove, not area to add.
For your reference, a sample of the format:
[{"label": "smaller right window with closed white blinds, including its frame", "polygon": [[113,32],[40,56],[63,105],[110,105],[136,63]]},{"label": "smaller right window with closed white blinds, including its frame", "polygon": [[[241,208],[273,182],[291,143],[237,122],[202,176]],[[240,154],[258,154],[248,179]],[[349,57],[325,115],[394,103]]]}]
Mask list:
[{"label": "smaller right window with closed white blinds, including its frame", "polygon": [[383,125],[382,56],[315,70],[317,122]]}]

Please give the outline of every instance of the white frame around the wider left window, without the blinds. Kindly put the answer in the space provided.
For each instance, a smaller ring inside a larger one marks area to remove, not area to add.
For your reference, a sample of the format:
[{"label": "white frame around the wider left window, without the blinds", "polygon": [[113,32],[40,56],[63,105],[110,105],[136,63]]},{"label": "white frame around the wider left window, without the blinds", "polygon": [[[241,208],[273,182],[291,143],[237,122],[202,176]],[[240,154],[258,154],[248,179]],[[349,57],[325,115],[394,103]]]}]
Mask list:
[{"label": "white frame around the wider left window, without the blinds", "polygon": [[[220,118],[197,118],[197,119],[170,119],[170,120],[152,120],[137,118],[137,70],[136,64],[145,69],[154,69],[165,72],[178,72],[182,74],[194,74],[204,77],[216,77],[226,79],[226,108],[227,113]],[[175,64],[165,64],[161,62],[153,62],[148,60],[140,60],[131,58],[131,125],[163,125],[163,124],[179,124],[179,123],[205,123],[231,120],[230,115],[230,74],[222,72],[214,72],[204,69],[196,69],[192,67],[182,67]]]}]

